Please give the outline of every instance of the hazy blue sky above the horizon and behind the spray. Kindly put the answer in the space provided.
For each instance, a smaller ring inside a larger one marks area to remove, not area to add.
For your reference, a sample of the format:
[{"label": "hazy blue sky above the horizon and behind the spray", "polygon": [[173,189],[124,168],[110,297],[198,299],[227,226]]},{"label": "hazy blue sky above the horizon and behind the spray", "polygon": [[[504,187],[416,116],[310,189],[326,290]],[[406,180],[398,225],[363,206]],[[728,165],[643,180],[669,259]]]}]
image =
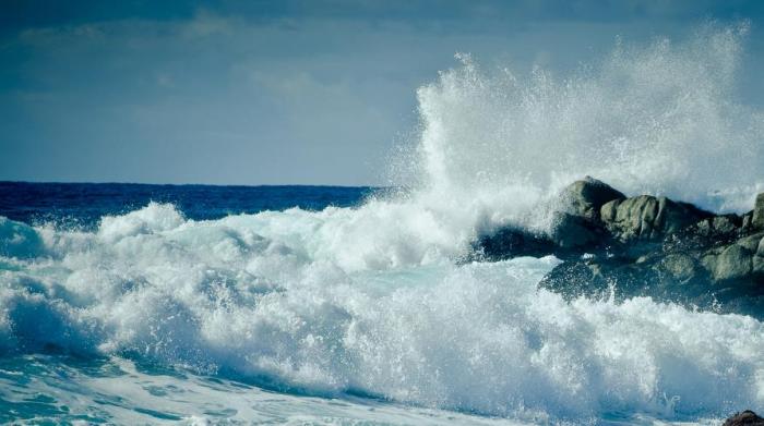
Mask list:
[{"label": "hazy blue sky above the horizon and behind the spray", "polygon": [[0,180],[386,184],[455,53],[564,75],[709,20],[764,105],[764,1],[1,0]]}]

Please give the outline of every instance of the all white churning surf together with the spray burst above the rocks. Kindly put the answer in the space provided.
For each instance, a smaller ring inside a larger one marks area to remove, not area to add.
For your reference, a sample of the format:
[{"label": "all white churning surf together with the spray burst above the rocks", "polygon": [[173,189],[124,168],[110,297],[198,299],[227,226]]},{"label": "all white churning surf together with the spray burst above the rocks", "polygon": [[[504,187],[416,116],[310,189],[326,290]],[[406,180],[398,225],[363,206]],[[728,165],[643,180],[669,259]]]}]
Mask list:
[{"label": "all white churning surf together with the spray burst above the rocks", "polygon": [[95,231],[0,219],[0,351],[522,422],[761,410],[764,325],[750,317],[569,303],[537,290],[551,256],[458,261],[478,232],[542,226],[539,203],[584,174],[749,209],[764,126],[736,102],[744,33],[619,44],[562,80],[462,56],[418,92],[416,184],[355,208],[195,221],[151,203]]}]

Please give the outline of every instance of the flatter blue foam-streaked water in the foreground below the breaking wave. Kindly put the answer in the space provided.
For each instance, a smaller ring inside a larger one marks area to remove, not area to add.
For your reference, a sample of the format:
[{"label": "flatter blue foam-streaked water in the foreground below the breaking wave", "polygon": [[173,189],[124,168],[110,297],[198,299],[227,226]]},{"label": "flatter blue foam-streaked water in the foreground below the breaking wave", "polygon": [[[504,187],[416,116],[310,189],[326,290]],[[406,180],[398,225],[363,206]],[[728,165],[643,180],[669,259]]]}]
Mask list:
[{"label": "flatter blue foam-streaked water in the foreground below the breaking wave", "polygon": [[3,424],[513,424],[357,395],[264,389],[120,357],[3,357],[0,385]]}]

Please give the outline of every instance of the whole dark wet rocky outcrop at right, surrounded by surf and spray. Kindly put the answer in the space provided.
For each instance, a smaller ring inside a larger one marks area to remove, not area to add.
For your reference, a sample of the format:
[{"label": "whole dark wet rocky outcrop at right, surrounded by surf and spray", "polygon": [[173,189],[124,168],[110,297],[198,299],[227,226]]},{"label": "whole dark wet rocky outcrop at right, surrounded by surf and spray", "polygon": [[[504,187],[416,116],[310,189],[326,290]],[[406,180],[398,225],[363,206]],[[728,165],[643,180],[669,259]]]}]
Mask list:
[{"label": "whole dark wet rocky outcrop at right, surrounded by surf and spray", "polygon": [[564,261],[539,285],[568,297],[647,295],[764,318],[764,194],[749,214],[714,215],[586,178],[561,193],[552,217],[549,233],[502,229],[476,252],[554,254]]}]

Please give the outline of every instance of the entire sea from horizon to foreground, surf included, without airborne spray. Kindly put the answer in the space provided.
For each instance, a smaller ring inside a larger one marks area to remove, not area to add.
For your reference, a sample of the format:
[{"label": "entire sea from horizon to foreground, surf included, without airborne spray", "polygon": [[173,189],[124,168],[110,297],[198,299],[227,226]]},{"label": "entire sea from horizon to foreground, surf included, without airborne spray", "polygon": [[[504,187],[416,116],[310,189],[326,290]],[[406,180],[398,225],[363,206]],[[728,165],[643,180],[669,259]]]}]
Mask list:
[{"label": "entire sea from horizon to foreground, surf included, without airborne spray", "polygon": [[536,290],[553,257],[452,261],[380,227],[403,218],[379,194],[0,184],[0,421],[652,424],[761,403],[760,322],[565,303]]}]

